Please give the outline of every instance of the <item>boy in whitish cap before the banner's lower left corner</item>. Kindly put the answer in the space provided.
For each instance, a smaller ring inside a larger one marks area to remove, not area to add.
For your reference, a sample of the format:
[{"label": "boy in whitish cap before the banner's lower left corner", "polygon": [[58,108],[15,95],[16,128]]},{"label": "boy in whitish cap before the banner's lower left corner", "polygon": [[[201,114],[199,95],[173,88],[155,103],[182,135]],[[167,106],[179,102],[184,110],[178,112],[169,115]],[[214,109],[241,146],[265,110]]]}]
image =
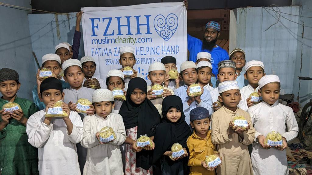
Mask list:
[{"label": "boy in whitish cap before the banner's lower left corner", "polygon": [[92,57],[84,56],[80,59],[80,63],[82,66],[83,73],[85,74],[85,78],[83,79],[83,86],[92,88],[92,89],[99,89],[99,88],[106,88],[105,80],[94,76],[96,64]]}]

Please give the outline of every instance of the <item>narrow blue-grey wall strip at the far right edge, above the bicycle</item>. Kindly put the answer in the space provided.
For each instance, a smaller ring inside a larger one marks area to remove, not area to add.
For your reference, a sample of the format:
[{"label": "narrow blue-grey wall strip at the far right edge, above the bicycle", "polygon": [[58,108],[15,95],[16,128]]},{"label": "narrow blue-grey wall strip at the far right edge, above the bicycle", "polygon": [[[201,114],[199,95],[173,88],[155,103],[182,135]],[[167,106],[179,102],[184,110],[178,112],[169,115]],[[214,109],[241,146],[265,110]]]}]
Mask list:
[{"label": "narrow blue-grey wall strip at the far right edge, above the bicycle", "polygon": [[[295,98],[304,105],[312,98],[312,82],[300,80],[298,76],[312,77],[312,1],[311,0],[293,0],[293,5],[300,6],[298,23],[298,32],[295,36],[298,39],[297,54],[295,55],[295,76],[294,76],[294,94]],[[307,18],[310,17],[310,18]],[[305,27],[303,27],[304,25]],[[303,107],[303,106],[302,106]]]}]

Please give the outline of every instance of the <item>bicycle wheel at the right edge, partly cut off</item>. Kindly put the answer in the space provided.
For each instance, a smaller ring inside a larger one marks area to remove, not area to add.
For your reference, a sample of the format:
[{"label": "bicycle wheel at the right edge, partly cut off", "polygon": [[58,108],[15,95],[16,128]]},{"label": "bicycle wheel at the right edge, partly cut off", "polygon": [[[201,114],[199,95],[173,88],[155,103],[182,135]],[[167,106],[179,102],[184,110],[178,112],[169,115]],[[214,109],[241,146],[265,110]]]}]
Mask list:
[{"label": "bicycle wheel at the right edge, partly cut off", "polygon": [[312,118],[309,115],[312,104],[309,102],[302,108],[299,122],[299,140],[305,149],[312,149]]}]

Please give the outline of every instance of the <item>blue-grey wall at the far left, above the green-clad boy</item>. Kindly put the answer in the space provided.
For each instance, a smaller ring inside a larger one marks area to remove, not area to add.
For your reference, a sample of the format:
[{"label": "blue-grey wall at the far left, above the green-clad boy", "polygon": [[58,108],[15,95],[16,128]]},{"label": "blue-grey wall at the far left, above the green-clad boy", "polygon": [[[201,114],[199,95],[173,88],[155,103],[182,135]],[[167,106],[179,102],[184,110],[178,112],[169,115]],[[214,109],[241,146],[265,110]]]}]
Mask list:
[{"label": "blue-grey wall at the far left, above the green-clad boy", "polygon": [[[31,8],[29,0],[2,0],[1,2]],[[36,68],[33,64],[28,13],[0,6],[0,69],[6,67],[16,70],[22,84],[17,93],[18,97],[32,100]]]}]

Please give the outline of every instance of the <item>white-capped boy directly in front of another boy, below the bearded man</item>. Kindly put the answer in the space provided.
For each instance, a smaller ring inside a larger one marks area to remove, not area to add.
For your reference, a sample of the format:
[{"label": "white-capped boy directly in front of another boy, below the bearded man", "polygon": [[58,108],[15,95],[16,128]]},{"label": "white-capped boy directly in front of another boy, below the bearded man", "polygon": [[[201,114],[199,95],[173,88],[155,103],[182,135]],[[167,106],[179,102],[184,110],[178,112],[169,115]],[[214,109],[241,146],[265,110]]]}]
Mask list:
[{"label": "white-capped boy directly in front of another boy, below the bearded man", "polygon": [[200,61],[196,64],[198,83],[206,88],[209,92],[214,88],[210,86],[212,78],[212,65],[208,61]]}]

